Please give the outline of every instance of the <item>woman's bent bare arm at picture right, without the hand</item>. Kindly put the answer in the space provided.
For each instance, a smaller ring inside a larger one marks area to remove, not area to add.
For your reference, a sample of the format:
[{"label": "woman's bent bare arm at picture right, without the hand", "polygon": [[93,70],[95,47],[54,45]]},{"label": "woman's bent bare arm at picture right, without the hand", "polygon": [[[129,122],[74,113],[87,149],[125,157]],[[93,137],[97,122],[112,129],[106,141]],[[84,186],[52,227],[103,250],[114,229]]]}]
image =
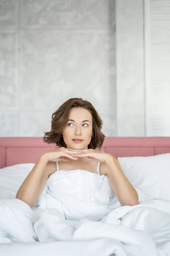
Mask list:
[{"label": "woman's bent bare arm at picture right, without the hand", "polygon": [[125,177],[119,162],[115,157],[111,156],[105,162],[107,165],[107,177],[111,188],[119,199],[120,204],[123,205],[136,205],[139,204],[138,193],[131,185],[129,180]]}]

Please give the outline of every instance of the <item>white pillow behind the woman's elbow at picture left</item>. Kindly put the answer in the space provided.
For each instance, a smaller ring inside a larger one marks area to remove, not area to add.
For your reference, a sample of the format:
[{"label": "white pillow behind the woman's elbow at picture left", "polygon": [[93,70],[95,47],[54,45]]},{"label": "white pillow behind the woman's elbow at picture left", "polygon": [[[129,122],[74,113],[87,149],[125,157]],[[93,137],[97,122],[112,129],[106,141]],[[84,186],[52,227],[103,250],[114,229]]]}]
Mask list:
[{"label": "white pillow behind the woman's elbow at picture left", "polygon": [[15,198],[34,163],[21,163],[0,169],[0,199]]}]

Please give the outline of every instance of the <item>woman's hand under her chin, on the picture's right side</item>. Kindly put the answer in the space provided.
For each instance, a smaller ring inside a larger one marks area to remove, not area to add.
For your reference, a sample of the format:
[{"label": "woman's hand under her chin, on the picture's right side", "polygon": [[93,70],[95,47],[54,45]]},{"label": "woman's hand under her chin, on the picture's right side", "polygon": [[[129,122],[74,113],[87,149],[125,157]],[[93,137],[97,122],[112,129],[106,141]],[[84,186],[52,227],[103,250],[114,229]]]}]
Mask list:
[{"label": "woman's hand under her chin, on the picture's right side", "polygon": [[70,150],[73,152],[71,155],[74,157],[88,157],[89,159],[92,159],[96,162],[100,162],[100,163],[107,163],[109,159],[111,159],[113,156],[109,153],[103,153],[101,151],[97,151],[95,149],[83,149],[82,153],[79,152],[79,154],[75,154],[74,152],[76,152],[75,149],[70,148]]}]

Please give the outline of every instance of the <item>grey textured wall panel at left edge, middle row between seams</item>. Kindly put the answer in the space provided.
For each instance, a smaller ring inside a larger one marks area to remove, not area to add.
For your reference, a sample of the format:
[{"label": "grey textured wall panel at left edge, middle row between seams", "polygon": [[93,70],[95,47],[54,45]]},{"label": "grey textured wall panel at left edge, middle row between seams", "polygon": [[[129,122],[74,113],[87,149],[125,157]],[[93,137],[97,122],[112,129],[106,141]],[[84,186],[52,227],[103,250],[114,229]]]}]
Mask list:
[{"label": "grey textured wall panel at left edge, middle row between seams", "polygon": [[18,109],[18,36],[0,31],[0,111]]}]

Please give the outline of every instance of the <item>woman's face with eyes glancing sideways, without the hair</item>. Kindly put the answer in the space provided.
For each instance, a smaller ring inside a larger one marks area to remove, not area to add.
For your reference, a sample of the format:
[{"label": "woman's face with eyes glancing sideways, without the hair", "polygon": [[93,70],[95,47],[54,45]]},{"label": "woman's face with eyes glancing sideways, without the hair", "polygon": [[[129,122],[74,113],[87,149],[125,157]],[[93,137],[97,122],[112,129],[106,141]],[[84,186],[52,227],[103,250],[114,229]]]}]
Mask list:
[{"label": "woman's face with eyes glancing sideways, without the hair", "polygon": [[[91,113],[84,108],[72,108],[67,125],[63,130],[63,139],[67,148],[85,149],[88,148],[93,134]],[[74,139],[79,139],[77,143]]]}]

